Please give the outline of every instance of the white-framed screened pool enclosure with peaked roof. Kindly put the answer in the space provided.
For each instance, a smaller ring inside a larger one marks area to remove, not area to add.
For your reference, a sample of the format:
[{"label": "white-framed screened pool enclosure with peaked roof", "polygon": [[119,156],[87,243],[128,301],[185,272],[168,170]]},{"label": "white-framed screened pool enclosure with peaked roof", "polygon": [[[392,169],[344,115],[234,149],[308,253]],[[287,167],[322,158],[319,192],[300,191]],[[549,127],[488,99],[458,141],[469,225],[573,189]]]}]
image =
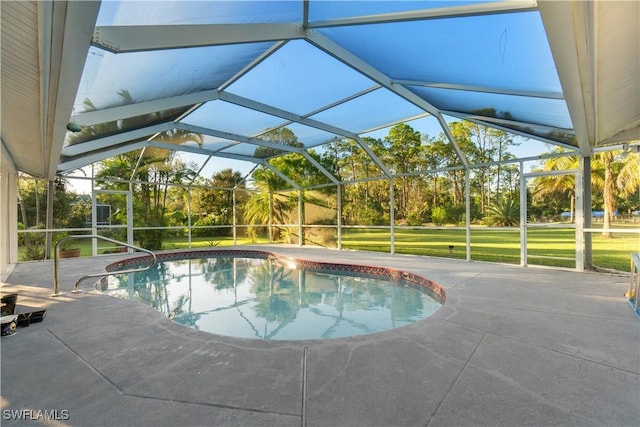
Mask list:
[{"label": "white-framed screened pool enclosure with peaked roof", "polygon": [[66,234],[578,270],[637,251],[637,2],[1,7],[1,274]]}]

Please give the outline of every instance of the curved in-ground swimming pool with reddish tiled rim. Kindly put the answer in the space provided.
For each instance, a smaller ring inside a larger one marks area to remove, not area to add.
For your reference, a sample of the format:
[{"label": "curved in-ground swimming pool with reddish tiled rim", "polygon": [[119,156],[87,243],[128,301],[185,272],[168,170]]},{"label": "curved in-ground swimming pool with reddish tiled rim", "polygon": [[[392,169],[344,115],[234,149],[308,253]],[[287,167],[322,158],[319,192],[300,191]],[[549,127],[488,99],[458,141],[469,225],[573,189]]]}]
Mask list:
[{"label": "curved in-ground swimming pool with reddish tiled rim", "polygon": [[382,267],[243,250],[160,254],[158,260],[151,270],[105,278],[100,289],[220,335],[301,340],[370,334],[429,317],[444,302],[442,288],[428,279]]}]

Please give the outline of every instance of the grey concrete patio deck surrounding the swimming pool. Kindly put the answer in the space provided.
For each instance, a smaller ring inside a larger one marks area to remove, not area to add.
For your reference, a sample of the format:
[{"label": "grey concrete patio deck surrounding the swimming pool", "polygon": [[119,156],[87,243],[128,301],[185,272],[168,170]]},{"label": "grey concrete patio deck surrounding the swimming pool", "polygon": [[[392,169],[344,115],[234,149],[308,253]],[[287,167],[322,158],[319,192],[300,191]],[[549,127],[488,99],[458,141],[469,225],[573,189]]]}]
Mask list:
[{"label": "grey concrete patio deck surrounding the swimming pool", "polygon": [[[2,292],[47,316],[2,338],[2,425],[640,425],[640,322],[623,297],[627,276],[241,248],[398,268],[443,286],[447,301],[387,332],[266,342],[188,329],[90,281],[87,292],[50,298],[52,263],[18,264]],[[118,259],[63,260],[62,289]],[[45,410],[58,420],[35,419]]]}]

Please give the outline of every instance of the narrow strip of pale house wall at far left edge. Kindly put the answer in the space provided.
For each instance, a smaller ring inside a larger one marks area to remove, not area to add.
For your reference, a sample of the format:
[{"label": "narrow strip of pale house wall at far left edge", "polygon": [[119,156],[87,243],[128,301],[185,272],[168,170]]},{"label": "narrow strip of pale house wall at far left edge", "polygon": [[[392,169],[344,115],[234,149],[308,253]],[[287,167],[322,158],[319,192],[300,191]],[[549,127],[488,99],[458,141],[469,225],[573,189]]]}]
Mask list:
[{"label": "narrow strip of pale house wall at far left edge", "polygon": [[0,144],[0,281],[18,262],[18,173]]}]

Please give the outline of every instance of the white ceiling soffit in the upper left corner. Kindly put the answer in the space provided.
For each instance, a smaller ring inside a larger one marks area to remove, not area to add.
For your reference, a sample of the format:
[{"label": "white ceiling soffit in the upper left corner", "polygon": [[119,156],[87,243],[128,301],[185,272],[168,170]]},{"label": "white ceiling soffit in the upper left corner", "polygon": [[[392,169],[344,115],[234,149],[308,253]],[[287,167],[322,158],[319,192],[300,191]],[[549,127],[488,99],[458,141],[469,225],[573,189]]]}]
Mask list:
[{"label": "white ceiling soffit in the upper left corner", "polygon": [[0,7],[2,143],[18,170],[53,179],[100,2]]}]

